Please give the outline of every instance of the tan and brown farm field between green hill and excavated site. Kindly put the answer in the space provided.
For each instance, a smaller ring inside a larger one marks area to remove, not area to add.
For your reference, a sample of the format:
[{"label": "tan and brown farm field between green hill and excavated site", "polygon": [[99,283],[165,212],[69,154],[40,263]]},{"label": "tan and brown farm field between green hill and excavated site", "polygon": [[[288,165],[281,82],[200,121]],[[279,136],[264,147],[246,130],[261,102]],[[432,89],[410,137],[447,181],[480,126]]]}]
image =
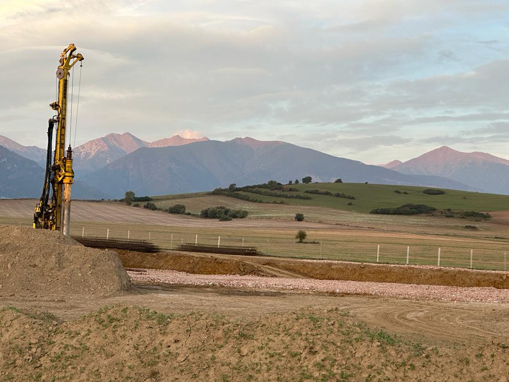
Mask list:
[{"label": "tan and brown farm field between green hill and excavated site", "polygon": [[[257,247],[270,256],[358,262],[423,264],[508,269],[509,239],[505,213],[488,222],[435,216],[373,215],[331,208],[300,206],[304,222],[293,220],[294,206],[250,203],[222,196],[195,196],[182,201],[189,209],[227,204],[250,208],[252,215],[230,222],[149,211],[120,203],[74,202],[71,234],[150,239],[163,249],[183,242]],[[31,224],[32,200],[0,201],[0,224]],[[235,204],[236,203],[236,204]],[[465,224],[475,224],[475,231]],[[297,230],[306,241],[295,239]],[[219,237],[220,236],[220,237]],[[380,247],[379,247],[380,246]],[[440,249],[440,250],[439,250]],[[378,256],[377,256],[378,255]]]}]

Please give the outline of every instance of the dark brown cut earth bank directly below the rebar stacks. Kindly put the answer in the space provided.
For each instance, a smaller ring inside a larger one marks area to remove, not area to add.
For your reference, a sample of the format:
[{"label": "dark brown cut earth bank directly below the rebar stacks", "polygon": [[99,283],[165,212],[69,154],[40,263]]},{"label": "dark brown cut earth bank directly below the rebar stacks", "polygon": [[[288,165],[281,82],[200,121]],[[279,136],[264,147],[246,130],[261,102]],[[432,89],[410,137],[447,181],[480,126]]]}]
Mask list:
[{"label": "dark brown cut earth bank directly below the rebar stacks", "polygon": [[172,269],[196,275],[273,276],[262,267],[237,259],[182,253],[141,253],[116,250],[126,268]]}]

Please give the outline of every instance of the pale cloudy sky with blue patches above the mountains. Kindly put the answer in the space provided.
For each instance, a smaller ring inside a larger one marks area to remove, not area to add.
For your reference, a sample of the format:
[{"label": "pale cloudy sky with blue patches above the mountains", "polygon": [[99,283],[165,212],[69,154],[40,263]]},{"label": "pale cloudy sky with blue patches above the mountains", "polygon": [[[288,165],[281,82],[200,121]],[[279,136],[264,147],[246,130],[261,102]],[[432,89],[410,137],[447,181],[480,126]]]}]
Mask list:
[{"label": "pale cloudy sky with blue patches above the mountains", "polygon": [[128,131],[509,158],[506,0],[2,0],[0,134],[46,146],[69,43],[76,146]]}]

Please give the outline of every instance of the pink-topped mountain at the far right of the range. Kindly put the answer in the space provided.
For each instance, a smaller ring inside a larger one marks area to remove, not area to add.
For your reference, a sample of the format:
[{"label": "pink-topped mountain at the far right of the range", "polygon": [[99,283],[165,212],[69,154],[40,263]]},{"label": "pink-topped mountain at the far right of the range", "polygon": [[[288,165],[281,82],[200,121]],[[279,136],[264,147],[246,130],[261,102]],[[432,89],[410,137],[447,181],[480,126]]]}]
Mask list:
[{"label": "pink-topped mountain at the far right of the range", "polygon": [[485,192],[509,195],[509,160],[488,153],[465,153],[443,146],[393,170],[403,174],[446,177]]}]

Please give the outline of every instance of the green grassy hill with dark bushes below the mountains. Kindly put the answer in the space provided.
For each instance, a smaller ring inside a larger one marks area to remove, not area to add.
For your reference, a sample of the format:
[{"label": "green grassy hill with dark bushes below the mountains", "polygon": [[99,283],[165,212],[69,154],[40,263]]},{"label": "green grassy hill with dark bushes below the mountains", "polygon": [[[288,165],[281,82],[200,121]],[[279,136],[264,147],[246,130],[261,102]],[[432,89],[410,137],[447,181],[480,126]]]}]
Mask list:
[{"label": "green grassy hill with dark bushes below the mountains", "polygon": [[[473,193],[458,190],[444,189],[445,194],[427,195],[423,193],[427,187],[416,186],[398,186],[385,184],[364,184],[364,183],[308,183],[293,184],[290,187],[297,191],[278,191],[273,193],[282,193],[288,195],[306,195],[312,199],[293,199],[277,196],[264,196],[248,192],[239,192],[252,198],[263,200],[264,202],[279,203],[281,200],[289,205],[305,205],[317,207],[330,207],[349,211],[369,212],[374,208],[398,207],[403,204],[427,204],[437,209],[450,208],[452,210],[475,210],[475,211],[504,211],[509,210],[509,196],[497,194]],[[343,193],[355,197],[354,200],[337,198],[328,195],[316,195],[304,193],[305,190],[319,189],[329,191],[332,194]],[[260,189],[268,191],[267,189]],[[401,194],[395,193],[399,190]],[[404,193],[407,194],[404,194]],[[172,199],[185,199],[203,197],[206,193],[179,194],[158,196],[154,199],[159,203],[171,204]],[[234,201],[234,198],[231,198]],[[238,200],[240,202],[240,200]],[[349,205],[348,202],[352,204]],[[242,203],[246,203],[242,201]]]}]

